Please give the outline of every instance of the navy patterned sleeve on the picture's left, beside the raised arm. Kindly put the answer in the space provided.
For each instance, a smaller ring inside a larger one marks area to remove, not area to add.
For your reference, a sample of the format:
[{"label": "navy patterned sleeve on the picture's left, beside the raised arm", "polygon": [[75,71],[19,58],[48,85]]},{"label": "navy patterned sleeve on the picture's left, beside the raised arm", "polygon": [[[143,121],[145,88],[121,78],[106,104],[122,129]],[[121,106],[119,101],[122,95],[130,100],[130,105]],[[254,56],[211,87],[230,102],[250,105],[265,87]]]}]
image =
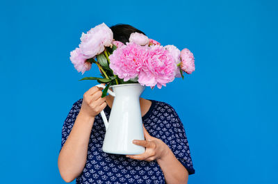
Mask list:
[{"label": "navy patterned sleeve on the picture's left, beside the raised arm", "polygon": [[76,119],[77,115],[79,114],[79,111],[81,108],[81,103],[82,103],[82,99],[79,99],[78,101],[74,102],[74,104],[72,105],[72,108],[70,109],[70,112],[67,114],[67,117],[63,123],[62,141],[61,141],[61,145],[60,145],[60,151],[63,148],[63,145],[65,144],[65,141],[67,140],[67,137],[69,137],[70,131],[72,131],[72,127],[74,126],[75,119]]}]

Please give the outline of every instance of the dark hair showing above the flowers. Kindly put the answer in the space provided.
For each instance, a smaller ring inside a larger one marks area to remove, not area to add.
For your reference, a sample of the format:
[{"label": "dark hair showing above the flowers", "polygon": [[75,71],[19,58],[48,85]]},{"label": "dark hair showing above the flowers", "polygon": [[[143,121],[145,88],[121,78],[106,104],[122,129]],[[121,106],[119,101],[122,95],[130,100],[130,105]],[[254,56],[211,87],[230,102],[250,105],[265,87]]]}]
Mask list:
[{"label": "dark hair showing above the flowers", "polygon": [[120,41],[124,44],[126,44],[126,42],[129,42],[129,36],[131,35],[131,33],[137,32],[145,35],[145,33],[129,24],[115,24],[110,28],[113,32],[113,38],[115,39],[115,41]]}]

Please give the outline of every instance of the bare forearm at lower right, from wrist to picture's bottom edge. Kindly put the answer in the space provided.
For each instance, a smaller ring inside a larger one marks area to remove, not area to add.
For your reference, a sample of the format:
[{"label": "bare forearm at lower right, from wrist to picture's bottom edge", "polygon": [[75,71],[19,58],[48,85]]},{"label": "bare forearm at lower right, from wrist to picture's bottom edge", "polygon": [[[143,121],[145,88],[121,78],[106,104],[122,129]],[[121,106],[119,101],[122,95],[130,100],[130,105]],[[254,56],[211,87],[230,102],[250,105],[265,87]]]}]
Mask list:
[{"label": "bare forearm at lower right, from wrist to picture's bottom edge", "polygon": [[186,184],[188,182],[187,169],[177,160],[172,150],[165,144],[165,154],[156,161],[161,167],[167,184]]}]

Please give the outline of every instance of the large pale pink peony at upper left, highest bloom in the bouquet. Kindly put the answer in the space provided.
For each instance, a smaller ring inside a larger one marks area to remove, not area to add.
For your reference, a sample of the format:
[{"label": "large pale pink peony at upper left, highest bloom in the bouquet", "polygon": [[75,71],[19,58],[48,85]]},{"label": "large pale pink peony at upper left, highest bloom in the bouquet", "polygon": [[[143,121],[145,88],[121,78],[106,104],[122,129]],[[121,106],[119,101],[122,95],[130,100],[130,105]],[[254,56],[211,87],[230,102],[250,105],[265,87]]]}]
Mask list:
[{"label": "large pale pink peony at upper left, highest bloom in the bouquet", "polygon": [[82,33],[79,47],[85,58],[93,58],[104,51],[104,47],[111,47],[113,32],[102,23],[91,28],[86,34]]}]

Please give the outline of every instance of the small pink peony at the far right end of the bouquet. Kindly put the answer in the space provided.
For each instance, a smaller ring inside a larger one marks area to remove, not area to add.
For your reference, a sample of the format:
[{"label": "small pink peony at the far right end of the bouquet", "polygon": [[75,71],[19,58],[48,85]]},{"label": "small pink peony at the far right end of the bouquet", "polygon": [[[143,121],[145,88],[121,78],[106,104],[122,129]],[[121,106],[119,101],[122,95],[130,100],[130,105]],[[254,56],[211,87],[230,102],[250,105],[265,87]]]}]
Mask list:
[{"label": "small pink peony at the far right end of the bouquet", "polygon": [[195,71],[195,60],[193,53],[188,49],[181,51],[181,69],[187,74],[191,74]]}]

